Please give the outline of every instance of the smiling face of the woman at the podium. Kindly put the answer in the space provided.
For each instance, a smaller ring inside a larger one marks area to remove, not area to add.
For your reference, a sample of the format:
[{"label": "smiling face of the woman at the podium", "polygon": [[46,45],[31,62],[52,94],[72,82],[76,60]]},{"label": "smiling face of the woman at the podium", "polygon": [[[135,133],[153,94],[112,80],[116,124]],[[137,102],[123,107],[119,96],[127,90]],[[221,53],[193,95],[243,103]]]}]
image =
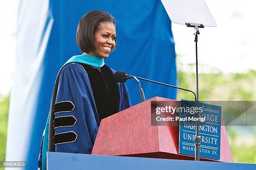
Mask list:
[{"label": "smiling face of the woman at the podium", "polygon": [[101,23],[94,34],[96,50],[89,52],[99,58],[107,58],[115,48],[115,25],[113,23]]}]

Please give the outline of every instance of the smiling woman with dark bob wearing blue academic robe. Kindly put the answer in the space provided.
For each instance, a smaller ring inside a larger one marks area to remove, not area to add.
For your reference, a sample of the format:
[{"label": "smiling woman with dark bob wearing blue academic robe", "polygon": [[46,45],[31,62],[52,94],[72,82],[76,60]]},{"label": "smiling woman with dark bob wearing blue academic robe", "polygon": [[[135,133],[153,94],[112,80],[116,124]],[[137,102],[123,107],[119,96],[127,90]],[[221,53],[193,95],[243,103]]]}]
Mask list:
[{"label": "smiling woman with dark bob wearing blue academic robe", "polygon": [[71,57],[56,78],[44,131],[38,169],[46,169],[46,152],[90,154],[100,121],[131,107],[125,83],[104,63],[116,45],[115,19],[94,10],[82,17],[77,44],[82,55]]}]

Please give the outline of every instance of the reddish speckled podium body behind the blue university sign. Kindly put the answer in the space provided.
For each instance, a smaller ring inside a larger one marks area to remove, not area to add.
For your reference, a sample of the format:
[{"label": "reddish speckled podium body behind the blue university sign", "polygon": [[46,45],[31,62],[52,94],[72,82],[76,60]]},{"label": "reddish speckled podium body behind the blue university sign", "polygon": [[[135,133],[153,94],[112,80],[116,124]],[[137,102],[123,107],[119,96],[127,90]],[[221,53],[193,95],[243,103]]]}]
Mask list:
[{"label": "reddish speckled podium body behind the blue university sign", "polygon": [[[179,126],[151,126],[151,101],[179,101],[154,97],[106,117],[100,123],[92,155],[195,160],[179,154]],[[233,163],[225,126],[221,126],[220,159],[202,161]]]}]

